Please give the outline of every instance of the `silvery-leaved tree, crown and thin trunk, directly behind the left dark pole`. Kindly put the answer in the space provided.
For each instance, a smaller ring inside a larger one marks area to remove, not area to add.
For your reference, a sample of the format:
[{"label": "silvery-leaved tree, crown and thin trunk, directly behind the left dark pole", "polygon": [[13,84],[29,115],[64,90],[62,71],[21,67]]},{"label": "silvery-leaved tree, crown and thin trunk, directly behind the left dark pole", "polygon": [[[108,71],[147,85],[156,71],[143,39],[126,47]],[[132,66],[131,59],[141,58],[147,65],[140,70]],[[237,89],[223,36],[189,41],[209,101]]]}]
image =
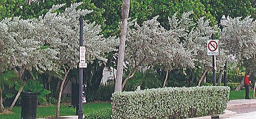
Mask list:
[{"label": "silvery-leaved tree, crown and thin trunk, directly behind the left dark pole", "polygon": [[[79,64],[79,17],[80,14],[84,16],[91,12],[89,10],[76,10],[81,2],[73,3],[63,13],[55,12],[64,5],[54,5],[45,16],[40,17],[42,27],[45,28],[43,33],[45,41],[58,51],[56,66],[65,70],[65,76],[62,79],[59,91],[56,117],[59,117],[61,94],[67,75],[71,69],[77,68]],[[95,23],[84,21],[83,28],[83,44],[86,47],[87,62],[90,63],[96,58],[106,61],[105,53],[116,50],[115,46],[118,46],[118,39],[113,37],[104,38],[103,35],[100,35],[101,26]]]}]

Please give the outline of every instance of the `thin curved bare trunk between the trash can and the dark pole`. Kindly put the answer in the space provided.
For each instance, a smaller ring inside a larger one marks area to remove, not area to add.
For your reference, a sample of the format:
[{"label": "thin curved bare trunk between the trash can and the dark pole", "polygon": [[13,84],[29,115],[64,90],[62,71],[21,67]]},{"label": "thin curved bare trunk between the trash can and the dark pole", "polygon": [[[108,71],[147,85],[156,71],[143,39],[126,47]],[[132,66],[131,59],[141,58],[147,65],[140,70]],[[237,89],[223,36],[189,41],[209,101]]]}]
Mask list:
[{"label": "thin curved bare trunk between the trash can and the dark pole", "polygon": [[62,80],[62,83],[61,83],[61,88],[59,89],[59,96],[58,96],[58,101],[57,101],[57,107],[56,107],[56,118],[59,118],[59,106],[61,105],[61,94],[62,94],[62,91],[63,91],[63,86],[64,86],[64,83],[65,83],[65,80],[67,78],[67,75],[69,74],[69,70],[67,70],[66,72],[66,68],[64,67],[65,69],[65,76]]}]

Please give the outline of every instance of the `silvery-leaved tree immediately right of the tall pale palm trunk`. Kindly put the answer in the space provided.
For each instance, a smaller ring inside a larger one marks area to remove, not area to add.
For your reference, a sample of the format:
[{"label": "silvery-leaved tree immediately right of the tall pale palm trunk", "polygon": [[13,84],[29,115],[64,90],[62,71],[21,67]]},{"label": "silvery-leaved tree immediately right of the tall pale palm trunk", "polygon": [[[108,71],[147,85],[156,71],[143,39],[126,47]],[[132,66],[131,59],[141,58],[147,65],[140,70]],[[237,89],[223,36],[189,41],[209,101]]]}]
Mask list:
[{"label": "silvery-leaved tree immediately right of the tall pale palm trunk", "polygon": [[[130,73],[122,84],[125,87],[127,80],[134,76],[139,66],[154,64],[158,59],[158,55],[165,44],[162,43],[166,39],[166,30],[161,27],[157,21],[158,17],[144,21],[138,25],[135,20],[128,24],[125,61],[128,62]],[[134,27],[134,28],[131,28]]]}]

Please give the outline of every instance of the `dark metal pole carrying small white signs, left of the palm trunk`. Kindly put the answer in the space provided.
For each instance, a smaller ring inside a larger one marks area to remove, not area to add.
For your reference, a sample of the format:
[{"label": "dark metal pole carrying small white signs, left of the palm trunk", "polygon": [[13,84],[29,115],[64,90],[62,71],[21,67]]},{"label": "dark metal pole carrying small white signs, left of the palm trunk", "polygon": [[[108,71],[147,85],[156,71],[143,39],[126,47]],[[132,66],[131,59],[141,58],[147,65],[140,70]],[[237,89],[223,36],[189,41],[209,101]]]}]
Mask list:
[{"label": "dark metal pole carrying small white signs, left of the palm trunk", "polygon": [[[80,46],[83,46],[83,15],[79,18],[80,21]],[[79,68],[79,109],[78,109],[78,116],[79,119],[83,119],[83,68]]]}]

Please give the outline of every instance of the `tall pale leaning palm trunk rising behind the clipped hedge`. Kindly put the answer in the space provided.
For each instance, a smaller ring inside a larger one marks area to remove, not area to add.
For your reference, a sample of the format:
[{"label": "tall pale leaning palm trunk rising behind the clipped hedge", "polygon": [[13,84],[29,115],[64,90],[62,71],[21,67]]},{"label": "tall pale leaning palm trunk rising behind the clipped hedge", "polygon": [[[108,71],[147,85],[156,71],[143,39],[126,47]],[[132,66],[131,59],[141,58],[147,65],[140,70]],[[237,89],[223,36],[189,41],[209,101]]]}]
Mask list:
[{"label": "tall pale leaning palm trunk rising behind the clipped hedge", "polygon": [[130,9],[130,0],[123,0],[122,24],[121,24],[120,44],[119,44],[119,54],[118,54],[118,68],[116,71],[115,92],[122,91],[123,59],[125,57],[125,40],[126,40],[129,9]]}]

